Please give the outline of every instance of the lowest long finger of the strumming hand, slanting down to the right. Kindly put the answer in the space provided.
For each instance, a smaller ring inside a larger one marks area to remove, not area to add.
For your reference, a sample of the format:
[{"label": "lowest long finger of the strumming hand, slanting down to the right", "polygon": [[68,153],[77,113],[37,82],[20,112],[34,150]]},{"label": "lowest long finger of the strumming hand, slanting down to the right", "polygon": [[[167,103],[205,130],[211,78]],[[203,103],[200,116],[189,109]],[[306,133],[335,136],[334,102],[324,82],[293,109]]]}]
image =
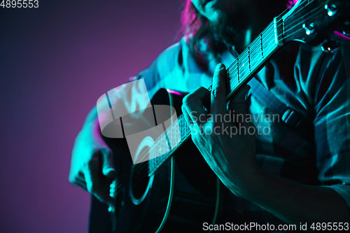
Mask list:
[{"label": "lowest long finger of the strumming hand, slanting down to the right", "polygon": [[99,164],[92,160],[88,166],[85,167],[85,181],[86,188],[92,195],[94,195],[100,202],[108,203],[114,206],[114,199],[109,196],[109,190],[102,190],[99,183]]}]

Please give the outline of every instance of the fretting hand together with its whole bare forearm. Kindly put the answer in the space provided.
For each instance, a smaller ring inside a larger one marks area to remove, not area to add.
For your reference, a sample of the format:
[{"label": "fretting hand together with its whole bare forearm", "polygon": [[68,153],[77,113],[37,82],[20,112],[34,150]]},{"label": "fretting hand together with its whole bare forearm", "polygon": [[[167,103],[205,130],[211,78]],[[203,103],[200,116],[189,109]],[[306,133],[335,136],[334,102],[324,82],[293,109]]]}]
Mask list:
[{"label": "fretting hand together with its whole bare forearm", "polygon": [[[240,88],[230,101],[235,122],[225,122],[225,118],[220,118],[227,113],[225,83],[225,66],[219,64],[214,73],[212,92],[198,88],[183,99],[182,108],[191,127],[193,142],[218,178],[238,197],[261,206],[286,223],[348,223],[350,215],[346,202],[335,190],[295,183],[258,167],[255,136],[248,130],[253,125],[245,118],[244,96],[248,87]],[[211,106],[210,114],[214,120],[203,109],[207,104]],[[229,127],[229,134],[223,133],[225,127]],[[232,132],[237,129],[237,134],[230,134],[230,127],[233,127]],[[246,133],[243,127],[246,127]]]}]

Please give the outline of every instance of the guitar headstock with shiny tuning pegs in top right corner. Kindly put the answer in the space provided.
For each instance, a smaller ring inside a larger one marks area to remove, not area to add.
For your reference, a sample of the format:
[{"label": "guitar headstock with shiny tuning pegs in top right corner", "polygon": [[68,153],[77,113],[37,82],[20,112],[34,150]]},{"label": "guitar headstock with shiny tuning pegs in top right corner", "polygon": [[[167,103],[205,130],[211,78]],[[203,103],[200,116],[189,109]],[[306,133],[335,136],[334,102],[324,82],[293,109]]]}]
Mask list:
[{"label": "guitar headstock with shiny tuning pegs in top right corner", "polygon": [[319,45],[350,20],[350,0],[298,0],[282,16],[283,43]]}]

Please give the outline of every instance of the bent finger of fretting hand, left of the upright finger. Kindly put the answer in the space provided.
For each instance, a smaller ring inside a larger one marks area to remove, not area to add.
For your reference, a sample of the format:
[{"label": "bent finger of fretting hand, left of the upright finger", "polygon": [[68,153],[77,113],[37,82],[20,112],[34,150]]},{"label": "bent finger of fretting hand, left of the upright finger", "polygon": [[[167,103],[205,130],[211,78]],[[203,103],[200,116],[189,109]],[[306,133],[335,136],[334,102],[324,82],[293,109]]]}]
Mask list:
[{"label": "bent finger of fretting hand, left of the upright finger", "polygon": [[198,87],[183,98],[183,108],[186,109],[191,120],[198,125],[200,125],[198,121],[206,119],[207,112],[204,111],[203,106],[209,103],[210,92],[204,87]]}]

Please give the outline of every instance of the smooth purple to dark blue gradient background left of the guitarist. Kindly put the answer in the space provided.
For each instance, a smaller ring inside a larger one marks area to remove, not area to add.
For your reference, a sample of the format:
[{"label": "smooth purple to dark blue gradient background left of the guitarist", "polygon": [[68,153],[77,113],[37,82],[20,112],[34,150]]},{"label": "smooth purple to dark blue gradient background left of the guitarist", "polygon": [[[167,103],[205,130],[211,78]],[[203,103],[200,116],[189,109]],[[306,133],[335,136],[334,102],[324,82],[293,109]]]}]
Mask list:
[{"label": "smooth purple to dark blue gradient background left of the guitarist", "polygon": [[85,116],[175,41],[179,0],[39,0],[0,8],[0,232],[87,232],[68,182]]}]

